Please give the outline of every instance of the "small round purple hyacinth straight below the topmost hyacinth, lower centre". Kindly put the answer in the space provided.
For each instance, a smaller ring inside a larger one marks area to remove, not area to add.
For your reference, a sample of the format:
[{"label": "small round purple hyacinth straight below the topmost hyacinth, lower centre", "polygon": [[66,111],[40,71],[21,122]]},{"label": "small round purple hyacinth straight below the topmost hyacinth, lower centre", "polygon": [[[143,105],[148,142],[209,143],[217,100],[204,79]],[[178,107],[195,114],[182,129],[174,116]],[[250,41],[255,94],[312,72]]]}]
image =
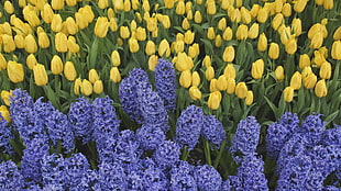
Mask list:
[{"label": "small round purple hyacinth straight below the topmost hyacinth, lower centre", "polygon": [[162,169],[172,167],[179,160],[180,146],[172,141],[165,141],[153,154],[153,159]]}]

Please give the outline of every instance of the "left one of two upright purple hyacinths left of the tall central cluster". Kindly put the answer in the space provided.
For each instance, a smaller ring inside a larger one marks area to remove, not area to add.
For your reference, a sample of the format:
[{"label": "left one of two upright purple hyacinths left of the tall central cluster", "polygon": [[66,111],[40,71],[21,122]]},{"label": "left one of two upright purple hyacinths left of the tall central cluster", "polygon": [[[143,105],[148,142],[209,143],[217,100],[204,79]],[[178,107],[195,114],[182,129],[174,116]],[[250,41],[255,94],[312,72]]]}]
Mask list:
[{"label": "left one of two upright purple hyacinths left of the tall central cluster", "polygon": [[77,99],[70,104],[67,114],[70,127],[77,138],[87,144],[92,135],[92,106],[89,100],[85,98]]}]

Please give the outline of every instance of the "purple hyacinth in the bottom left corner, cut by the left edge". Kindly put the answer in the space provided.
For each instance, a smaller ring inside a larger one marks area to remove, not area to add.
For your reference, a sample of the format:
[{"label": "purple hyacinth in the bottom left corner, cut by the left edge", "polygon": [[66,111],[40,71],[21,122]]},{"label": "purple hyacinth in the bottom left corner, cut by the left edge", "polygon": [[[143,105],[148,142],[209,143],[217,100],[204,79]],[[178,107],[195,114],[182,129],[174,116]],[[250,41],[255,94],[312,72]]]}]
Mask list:
[{"label": "purple hyacinth in the bottom left corner, cut by the left edge", "polygon": [[24,187],[24,177],[12,160],[0,164],[0,190],[19,191]]}]

